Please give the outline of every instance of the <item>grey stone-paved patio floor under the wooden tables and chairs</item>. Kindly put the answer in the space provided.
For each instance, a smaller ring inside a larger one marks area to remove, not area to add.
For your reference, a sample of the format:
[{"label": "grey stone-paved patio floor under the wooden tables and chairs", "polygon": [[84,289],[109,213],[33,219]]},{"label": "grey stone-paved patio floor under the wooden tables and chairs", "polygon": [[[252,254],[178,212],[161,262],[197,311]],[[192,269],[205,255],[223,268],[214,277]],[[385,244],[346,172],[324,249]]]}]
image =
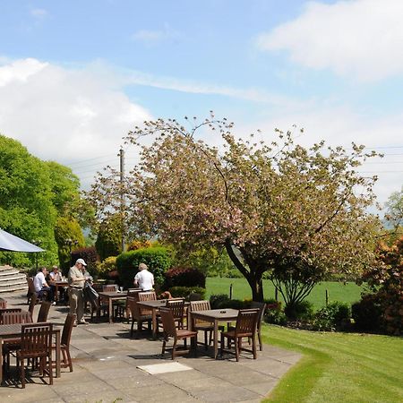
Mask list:
[{"label": "grey stone-paved patio floor under the wooden tables and chairs", "polygon": [[[2,294],[8,307],[28,309],[21,292]],[[38,314],[37,305],[34,317]],[[63,326],[65,306],[52,306],[49,321]],[[62,377],[52,386],[38,376],[29,378],[25,390],[19,381],[0,388],[0,400],[13,402],[259,402],[279,382],[300,355],[265,345],[253,360],[243,353],[236,363],[234,356],[212,359],[211,350],[198,348],[199,356],[180,356],[174,364],[169,355],[162,357],[160,340],[129,339],[130,325],[123,322],[90,323],[73,328],[71,353],[73,373],[62,369]],[[158,373],[140,368],[152,366]],[[183,367],[185,366],[185,368]],[[177,368],[179,366],[181,368]],[[177,371],[176,370],[180,370]],[[162,371],[162,373],[161,373]],[[165,372],[167,371],[167,372]],[[47,381],[47,378],[45,378]]]}]

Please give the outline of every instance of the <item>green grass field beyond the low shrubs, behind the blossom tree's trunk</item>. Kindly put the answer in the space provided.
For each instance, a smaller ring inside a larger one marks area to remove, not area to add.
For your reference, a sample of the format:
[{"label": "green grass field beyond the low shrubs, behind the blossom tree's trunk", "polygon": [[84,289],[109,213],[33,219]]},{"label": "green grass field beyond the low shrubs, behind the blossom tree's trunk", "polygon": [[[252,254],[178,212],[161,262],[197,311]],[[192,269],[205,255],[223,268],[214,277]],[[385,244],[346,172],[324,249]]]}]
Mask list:
[{"label": "green grass field beyond the low shrubs, behind the blossom tree's trunk", "polygon": [[[227,294],[229,295],[229,287],[232,287],[232,297],[234,299],[251,298],[251,288],[246,279],[225,279],[225,278],[208,278],[207,279],[207,295],[211,294]],[[264,297],[274,298],[274,287],[269,280],[263,280]],[[315,309],[321,308],[326,302],[326,289],[329,294],[329,301],[339,301],[352,304],[360,299],[362,287],[357,286],[353,282],[346,285],[335,281],[325,281],[313,287],[311,294],[306,298],[310,301]],[[279,295],[281,300],[281,296]]]}]

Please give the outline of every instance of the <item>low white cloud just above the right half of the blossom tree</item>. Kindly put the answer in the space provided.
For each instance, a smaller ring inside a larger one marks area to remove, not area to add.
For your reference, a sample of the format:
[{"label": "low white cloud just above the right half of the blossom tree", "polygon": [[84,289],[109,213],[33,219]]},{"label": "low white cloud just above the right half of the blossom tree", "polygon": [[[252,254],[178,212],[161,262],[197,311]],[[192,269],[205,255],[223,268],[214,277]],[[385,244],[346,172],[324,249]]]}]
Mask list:
[{"label": "low white cloud just above the right half of the blossom tree", "polygon": [[[236,124],[236,134],[242,136],[261,129],[262,134],[256,134],[255,139],[269,142],[276,138],[274,129],[279,128],[292,131],[296,142],[304,147],[325,140],[327,145],[340,145],[351,150],[351,143],[355,142],[364,144],[367,150],[384,153],[383,159],[369,159],[359,168],[364,176],[379,177],[374,192],[378,201],[384,203],[390,193],[399,191],[403,184],[402,126],[403,114],[372,119],[360,116],[347,107],[322,107],[316,104],[298,112],[267,116],[253,126]],[[304,133],[299,133],[300,128],[304,128]]]}]

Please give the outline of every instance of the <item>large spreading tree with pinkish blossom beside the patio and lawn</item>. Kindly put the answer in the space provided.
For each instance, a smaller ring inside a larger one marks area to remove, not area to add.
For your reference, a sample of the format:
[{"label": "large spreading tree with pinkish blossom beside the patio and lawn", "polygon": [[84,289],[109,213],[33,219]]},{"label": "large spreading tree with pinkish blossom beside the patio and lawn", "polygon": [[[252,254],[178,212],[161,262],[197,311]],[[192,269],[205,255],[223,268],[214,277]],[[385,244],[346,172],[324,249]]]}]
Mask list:
[{"label": "large spreading tree with pinkish blossom beside the patio and lawn", "polygon": [[[124,193],[125,222],[137,235],[189,250],[224,246],[253,300],[263,299],[265,272],[290,305],[330,273],[358,274],[370,264],[376,220],[366,208],[376,178],[356,167],[374,152],[353,144],[347,153],[323,141],[305,149],[279,130],[270,144],[253,134],[236,140],[232,130],[213,115],[191,129],[176,120],[145,122],[126,138],[140,145],[155,136],[141,146],[140,164],[125,183],[114,172],[99,175],[90,201],[105,216],[122,210],[116,196]],[[196,138],[209,131],[222,147]]]}]

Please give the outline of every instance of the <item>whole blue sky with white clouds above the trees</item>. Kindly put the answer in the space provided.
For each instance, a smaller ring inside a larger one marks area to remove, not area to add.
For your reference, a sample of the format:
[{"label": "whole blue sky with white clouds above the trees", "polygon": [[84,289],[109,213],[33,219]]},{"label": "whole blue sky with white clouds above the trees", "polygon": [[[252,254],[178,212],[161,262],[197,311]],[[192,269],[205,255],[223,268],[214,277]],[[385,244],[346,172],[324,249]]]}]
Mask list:
[{"label": "whole blue sky with white clouds above the trees", "polygon": [[0,133],[88,187],[145,119],[214,110],[268,141],[296,124],[304,145],[384,153],[362,168],[384,202],[403,184],[402,19],[402,0],[0,0]]}]

